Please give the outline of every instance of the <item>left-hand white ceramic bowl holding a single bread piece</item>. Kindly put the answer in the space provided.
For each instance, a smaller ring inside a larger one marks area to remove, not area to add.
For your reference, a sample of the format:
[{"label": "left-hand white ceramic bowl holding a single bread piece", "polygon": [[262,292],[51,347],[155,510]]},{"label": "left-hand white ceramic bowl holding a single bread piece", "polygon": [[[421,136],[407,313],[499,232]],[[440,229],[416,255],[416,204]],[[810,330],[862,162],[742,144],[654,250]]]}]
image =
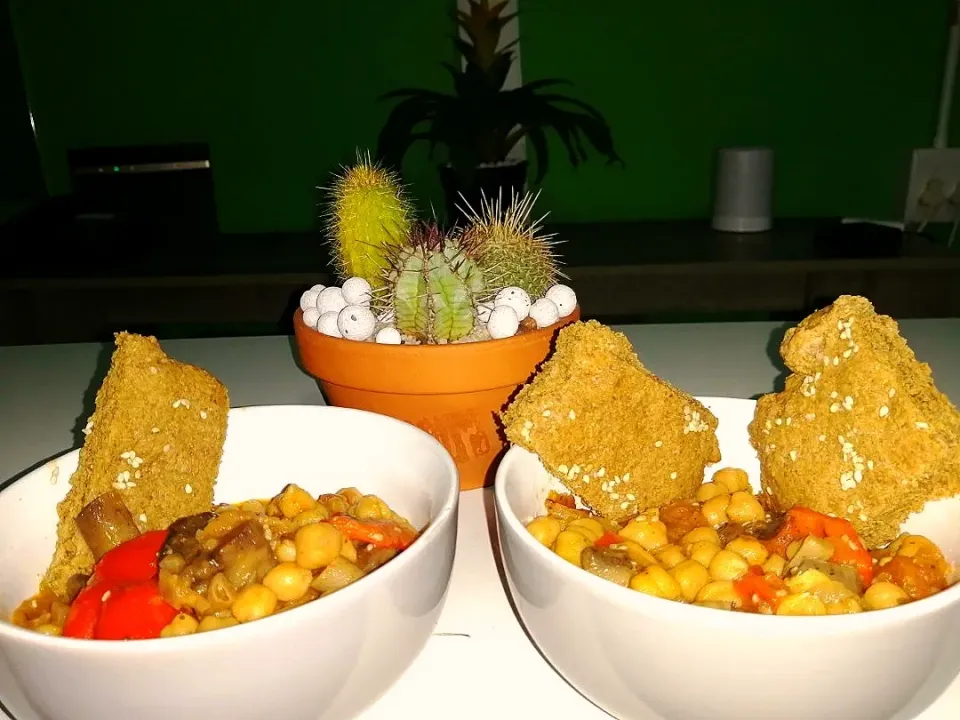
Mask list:
[{"label": "left-hand white ceramic bowl holding a single bread piece", "polygon": [[[0,493],[4,620],[36,592],[77,454]],[[420,653],[443,607],[457,537],[456,467],[432,437],[388,417],[310,406],[231,410],[217,500],[269,497],[288,482],[316,494],[355,486],[427,529],[355,584],[248,625],[122,643],[0,622],[8,710],[17,720],[318,720],[354,717],[376,700]]]}]

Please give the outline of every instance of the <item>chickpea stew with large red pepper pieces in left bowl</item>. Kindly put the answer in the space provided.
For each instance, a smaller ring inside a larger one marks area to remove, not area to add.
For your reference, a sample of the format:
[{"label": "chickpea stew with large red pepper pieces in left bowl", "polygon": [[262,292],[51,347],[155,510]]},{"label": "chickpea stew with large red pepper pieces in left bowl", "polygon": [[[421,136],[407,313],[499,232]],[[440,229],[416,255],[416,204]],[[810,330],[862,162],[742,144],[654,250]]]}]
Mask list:
[{"label": "chickpea stew with large red pepper pieces in left bowl", "polygon": [[375,495],[319,497],[287,485],[140,533],[117,493],[77,517],[96,564],[67,594],[41,588],[12,621],[48,635],[133,640],[227,628],[340,590],[405,550],[418,531]]}]

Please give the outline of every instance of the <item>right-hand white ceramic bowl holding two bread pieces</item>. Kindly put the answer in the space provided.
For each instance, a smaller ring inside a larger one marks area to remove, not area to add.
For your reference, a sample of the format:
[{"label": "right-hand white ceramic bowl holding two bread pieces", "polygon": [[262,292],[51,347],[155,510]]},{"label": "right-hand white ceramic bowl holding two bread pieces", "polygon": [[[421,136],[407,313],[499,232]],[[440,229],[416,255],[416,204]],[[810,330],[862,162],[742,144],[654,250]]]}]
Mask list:
[{"label": "right-hand white ceramic bowl holding two bread pieces", "polygon": [[[718,417],[720,466],[759,463],[750,400],[701,398]],[[708,468],[708,473],[716,468]],[[536,455],[511,448],[496,478],[507,582],[523,624],[574,688],[622,720],[912,718],[960,671],[960,585],[903,607],[771,617],[669,602],[574,567],[524,523],[556,488]],[[905,523],[960,563],[960,501]],[[897,714],[900,712],[901,714]]]}]

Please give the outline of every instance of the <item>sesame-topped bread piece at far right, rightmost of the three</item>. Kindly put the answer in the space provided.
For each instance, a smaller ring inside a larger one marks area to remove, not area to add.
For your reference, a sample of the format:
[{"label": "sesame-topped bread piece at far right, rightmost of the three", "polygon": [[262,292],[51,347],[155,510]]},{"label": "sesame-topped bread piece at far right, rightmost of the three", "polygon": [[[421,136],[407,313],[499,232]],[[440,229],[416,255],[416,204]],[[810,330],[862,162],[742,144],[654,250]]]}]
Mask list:
[{"label": "sesame-topped bread piece at far right, rightmost of the three", "polygon": [[875,547],[960,492],[960,413],[870,301],[837,298],[788,330],[780,354],[792,374],[749,428],[773,504],[846,518]]}]

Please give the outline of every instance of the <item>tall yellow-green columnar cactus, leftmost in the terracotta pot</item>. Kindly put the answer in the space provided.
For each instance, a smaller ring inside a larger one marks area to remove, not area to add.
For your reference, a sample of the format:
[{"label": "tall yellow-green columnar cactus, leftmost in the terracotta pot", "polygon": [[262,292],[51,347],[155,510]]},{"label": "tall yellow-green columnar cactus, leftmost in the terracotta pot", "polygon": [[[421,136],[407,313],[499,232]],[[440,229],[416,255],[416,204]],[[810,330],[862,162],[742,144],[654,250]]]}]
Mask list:
[{"label": "tall yellow-green columnar cactus, leftmost in the terracotta pot", "polygon": [[406,242],[412,209],[397,176],[357,153],[329,189],[327,228],[337,270],[373,287],[382,282],[390,248]]}]

